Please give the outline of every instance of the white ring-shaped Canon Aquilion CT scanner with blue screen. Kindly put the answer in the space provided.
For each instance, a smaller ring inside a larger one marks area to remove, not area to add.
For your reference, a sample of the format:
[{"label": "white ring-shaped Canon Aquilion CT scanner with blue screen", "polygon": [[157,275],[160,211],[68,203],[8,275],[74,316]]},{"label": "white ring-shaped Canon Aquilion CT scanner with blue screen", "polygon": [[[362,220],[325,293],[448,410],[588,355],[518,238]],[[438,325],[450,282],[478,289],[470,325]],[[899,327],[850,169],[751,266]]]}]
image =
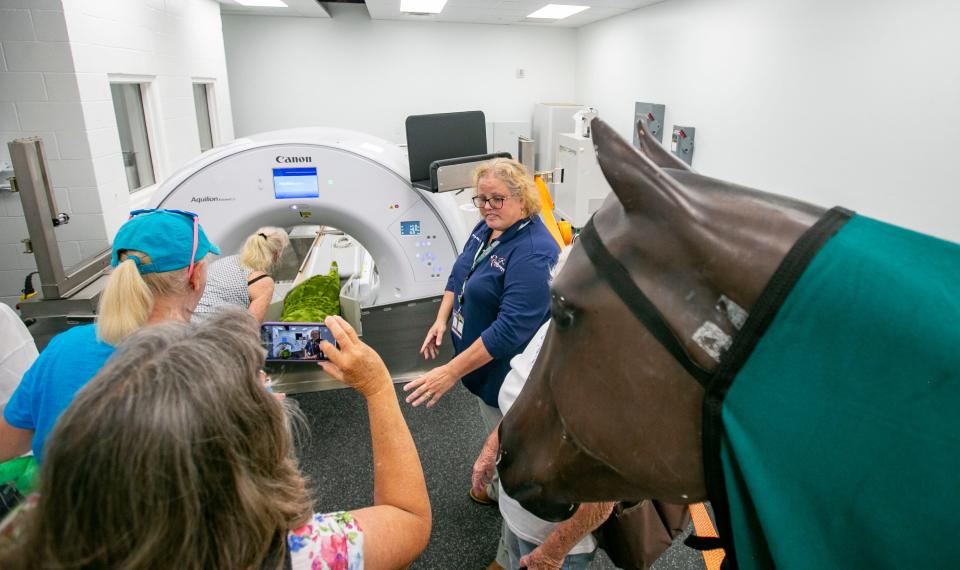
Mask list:
[{"label": "white ring-shaped Canon Aquilion CT scanner with blue screen", "polygon": [[407,172],[403,151],[376,137],[275,131],[204,153],[159,185],[154,207],[196,212],[224,254],[260,226],[337,228],[377,269],[363,305],[386,305],[441,294],[469,230],[453,196],[414,188]]}]

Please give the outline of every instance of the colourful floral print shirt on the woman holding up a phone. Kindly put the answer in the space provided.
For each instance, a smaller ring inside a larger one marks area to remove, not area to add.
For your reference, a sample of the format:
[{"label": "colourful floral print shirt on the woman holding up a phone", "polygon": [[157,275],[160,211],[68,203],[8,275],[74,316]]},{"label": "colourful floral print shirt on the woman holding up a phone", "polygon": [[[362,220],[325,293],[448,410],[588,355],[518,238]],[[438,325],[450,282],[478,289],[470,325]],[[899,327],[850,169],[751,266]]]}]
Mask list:
[{"label": "colourful floral print shirt on the woman holding up a phone", "polygon": [[287,546],[293,570],[363,570],[363,530],[344,511],[313,515]]}]

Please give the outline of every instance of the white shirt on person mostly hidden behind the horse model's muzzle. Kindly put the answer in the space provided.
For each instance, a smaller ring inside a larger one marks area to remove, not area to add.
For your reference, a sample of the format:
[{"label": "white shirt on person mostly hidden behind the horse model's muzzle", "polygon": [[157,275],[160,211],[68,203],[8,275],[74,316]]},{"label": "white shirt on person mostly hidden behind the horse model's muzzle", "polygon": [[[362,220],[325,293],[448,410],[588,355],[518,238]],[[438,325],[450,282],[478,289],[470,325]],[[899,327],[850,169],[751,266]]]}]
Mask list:
[{"label": "white shirt on person mostly hidden behind the horse model's muzzle", "polygon": [[[510,406],[517,401],[517,396],[520,395],[520,391],[523,390],[523,385],[526,383],[527,377],[530,376],[533,364],[537,361],[537,355],[540,354],[540,348],[543,346],[543,339],[547,336],[547,326],[549,324],[550,321],[544,323],[544,325],[540,327],[540,330],[530,339],[530,344],[527,345],[527,348],[520,354],[514,356],[510,361],[510,372],[507,373],[507,377],[503,381],[503,386],[500,387],[500,395],[497,399],[500,411],[503,412],[504,415],[510,411]],[[503,490],[503,485],[499,483],[498,485],[499,495],[497,500],[500,504],[500,514],[503,516],[503,520],[507,523],[507,526],[510,527],[510,530],[527,542],[543,544],[543,541],[553,532],[557,523],[547,522],[524,509],[520,506],[520,503],[507,495],[506,491]],[[593,552],[596,548],[596,539],[593,538],[592,533],[587,533],[587,536],[583,537],[580,542],[574,545],[567,554],[586,554]]]}]

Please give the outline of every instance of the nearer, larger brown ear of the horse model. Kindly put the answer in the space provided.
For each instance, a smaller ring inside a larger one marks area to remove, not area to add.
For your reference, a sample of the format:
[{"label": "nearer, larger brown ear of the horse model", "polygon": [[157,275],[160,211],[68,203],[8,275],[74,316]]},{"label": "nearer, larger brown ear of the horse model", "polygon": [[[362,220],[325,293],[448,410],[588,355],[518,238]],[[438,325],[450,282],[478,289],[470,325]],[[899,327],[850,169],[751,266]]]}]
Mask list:
[{"label": "nearer, larger brown ear of the horse model", "polygon": [[600,169],[628,212],[662,213],[685,202],[676,180],[600,119],[590,122]]}]

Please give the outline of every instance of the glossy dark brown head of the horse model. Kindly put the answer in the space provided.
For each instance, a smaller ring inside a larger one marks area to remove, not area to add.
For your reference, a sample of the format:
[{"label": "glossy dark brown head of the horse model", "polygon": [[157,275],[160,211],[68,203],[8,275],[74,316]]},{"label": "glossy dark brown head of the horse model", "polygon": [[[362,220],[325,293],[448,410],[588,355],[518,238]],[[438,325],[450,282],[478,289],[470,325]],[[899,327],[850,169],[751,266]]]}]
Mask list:
[{"label": "glossy dark brown head of the horse model", "polygon": [[[550,330],[501,427],[507,493],[548,520],[581,501],[706,498],[698,379],[824,212],[699,175],[643,124],[641,152],[599,119],[592,130],[613,194],[552,284]],[[610,266],[598,270],[598,247],[659,333],[631,313]]]}]

